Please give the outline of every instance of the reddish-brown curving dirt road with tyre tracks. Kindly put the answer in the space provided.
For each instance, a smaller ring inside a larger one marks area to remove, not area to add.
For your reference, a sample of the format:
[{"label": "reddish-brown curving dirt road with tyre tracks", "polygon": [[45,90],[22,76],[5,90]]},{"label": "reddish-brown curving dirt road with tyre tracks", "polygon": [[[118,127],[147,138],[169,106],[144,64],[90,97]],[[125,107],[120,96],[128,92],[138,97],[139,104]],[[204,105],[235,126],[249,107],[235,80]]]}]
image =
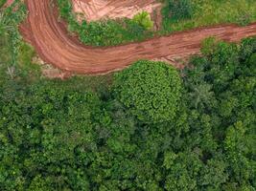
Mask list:
[{"label": "reddish-brown curving dirt road with tyre tracks", "polygon": [[227,41],[256,35],[256,23],[247,27],[234,25],[177,32],[111,48],[92,48],[81,45],[68,35],[63,24],[52,11],[51,0],[27,0],[29,16],[21,32],[39,56],[59,69],[79,74],[105,74],[121,70],[138,59],[183,56],[198,53],[200,41],[216,36]]}]

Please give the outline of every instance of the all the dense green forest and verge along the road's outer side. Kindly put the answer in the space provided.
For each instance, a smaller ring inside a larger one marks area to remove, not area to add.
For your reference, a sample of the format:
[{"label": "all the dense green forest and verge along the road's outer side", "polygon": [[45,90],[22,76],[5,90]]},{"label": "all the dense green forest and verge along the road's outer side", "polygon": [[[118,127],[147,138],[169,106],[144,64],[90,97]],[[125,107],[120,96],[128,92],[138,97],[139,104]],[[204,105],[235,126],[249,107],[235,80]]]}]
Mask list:
[{"label": "all the dense green forest and verge along the road's outer side", "polygon": [[209,37],[182,70],[48,79],[25,17],[0,14],[0,190],[256,190],[256,37]]}]

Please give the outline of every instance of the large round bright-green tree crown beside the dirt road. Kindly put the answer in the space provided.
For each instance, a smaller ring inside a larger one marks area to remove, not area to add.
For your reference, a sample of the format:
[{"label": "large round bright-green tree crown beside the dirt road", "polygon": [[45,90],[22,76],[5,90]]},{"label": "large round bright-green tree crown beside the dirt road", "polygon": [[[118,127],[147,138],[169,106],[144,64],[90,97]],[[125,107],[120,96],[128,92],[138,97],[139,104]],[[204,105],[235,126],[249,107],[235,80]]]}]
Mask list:
[{"label": "large round bright-green tree crown beside the dirt road", "polygon": [[175,117],[181,82],[172,66],[138,61],[115,75],[115,93],[130,112],[144,122],[163,122]]}]

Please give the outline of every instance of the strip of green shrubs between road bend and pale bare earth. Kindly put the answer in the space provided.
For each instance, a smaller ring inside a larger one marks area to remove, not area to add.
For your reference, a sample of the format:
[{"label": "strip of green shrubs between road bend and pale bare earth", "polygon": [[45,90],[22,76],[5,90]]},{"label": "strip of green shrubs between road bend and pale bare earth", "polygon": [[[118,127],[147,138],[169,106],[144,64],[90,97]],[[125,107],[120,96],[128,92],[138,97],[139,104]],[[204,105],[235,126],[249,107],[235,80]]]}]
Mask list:
[{"label": "strip of green shrubs between road bend and pale bare earth", "polygon": [[152,23],[147,12],[141,12],[133,19],[102,20],[79,23],[72,11],[70,0],[58,0],[60,16],[68,23],[69,32],[76,32],[82,43],[92,46],[114,46],[142,41],[153,35]]}]

